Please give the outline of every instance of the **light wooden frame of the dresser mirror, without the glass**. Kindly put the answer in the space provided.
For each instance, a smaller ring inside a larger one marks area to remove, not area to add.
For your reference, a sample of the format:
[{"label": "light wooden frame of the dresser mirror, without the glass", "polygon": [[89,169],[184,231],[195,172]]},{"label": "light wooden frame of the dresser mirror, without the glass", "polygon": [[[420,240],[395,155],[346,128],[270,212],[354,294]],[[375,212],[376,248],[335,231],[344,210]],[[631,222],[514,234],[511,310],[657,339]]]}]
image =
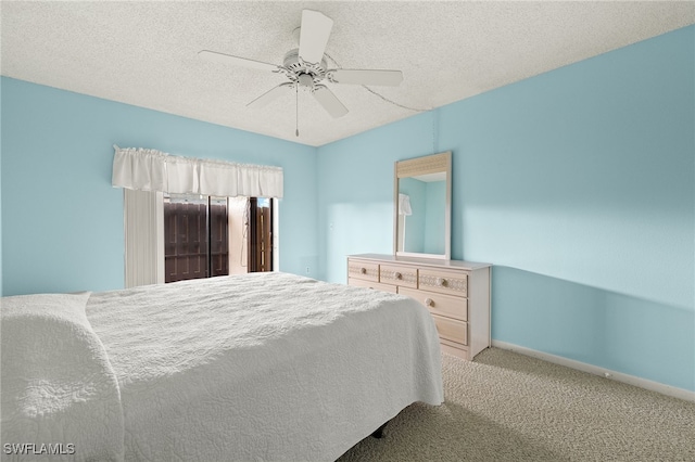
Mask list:
[{"label": "light wooden frame of the dresser mirror, without the glass", "polygon": [[[427,174],[446,174],[446,203],[444,205],[444,254],[399,252],[399,179]],[[452,255],[452,152],[396,161],[393,175],[393,255],[451,259]]]}]

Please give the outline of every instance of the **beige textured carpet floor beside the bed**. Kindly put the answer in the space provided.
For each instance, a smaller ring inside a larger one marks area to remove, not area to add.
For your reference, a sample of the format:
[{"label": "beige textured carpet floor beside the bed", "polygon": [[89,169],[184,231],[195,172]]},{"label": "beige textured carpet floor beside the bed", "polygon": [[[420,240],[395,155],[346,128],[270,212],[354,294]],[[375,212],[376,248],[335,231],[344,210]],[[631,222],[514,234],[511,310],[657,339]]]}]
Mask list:
[{"label": "beige textured carpet floor beside the bed", "polygon": [[445,401],[415,403],[339,461],[695,462],[695,402],[489,348],[443,355]]}]

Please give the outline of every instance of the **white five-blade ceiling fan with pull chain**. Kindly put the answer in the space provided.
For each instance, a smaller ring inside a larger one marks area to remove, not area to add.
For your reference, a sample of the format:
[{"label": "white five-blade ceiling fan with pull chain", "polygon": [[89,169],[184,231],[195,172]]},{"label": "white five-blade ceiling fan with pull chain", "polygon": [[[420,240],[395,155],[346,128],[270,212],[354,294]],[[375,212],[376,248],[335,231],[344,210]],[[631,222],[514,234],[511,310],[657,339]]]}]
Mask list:
[{"label": "white five-blade ceiling fan with pull chain", "polygon": [[198,55],[206,61],[286,75],[289,81],[251,101],[247,104],[248,107],[263,107],[283,94],[303,89],[309,91],[328,114],[342,117],[348,114],[348,108],[325,82],[395,87],[403,80],[403,74],[401,70],[329,68],[324,52],[332,27],[333,20],[330,17],[318,11],[303,10],[302,25],[295,29],[295,33],[299,31],[299,49],[288,51],[282,65],[210,50],[203,50]]}]

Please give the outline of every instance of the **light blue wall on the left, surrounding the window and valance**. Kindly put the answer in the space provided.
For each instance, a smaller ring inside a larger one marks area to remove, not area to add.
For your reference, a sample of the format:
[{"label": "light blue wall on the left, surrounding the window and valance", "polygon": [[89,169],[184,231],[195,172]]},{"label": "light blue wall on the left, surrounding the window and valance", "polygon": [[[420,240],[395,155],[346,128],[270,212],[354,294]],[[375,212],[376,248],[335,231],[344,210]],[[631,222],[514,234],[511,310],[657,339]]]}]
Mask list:
[{"label": "light blue wall on the left, surrounding the window and valance", "polygon": [[1,91],[4,295],[123,287],[114,143],[283,167],[280,270],[317,274],[315,147],[5,77]]}]

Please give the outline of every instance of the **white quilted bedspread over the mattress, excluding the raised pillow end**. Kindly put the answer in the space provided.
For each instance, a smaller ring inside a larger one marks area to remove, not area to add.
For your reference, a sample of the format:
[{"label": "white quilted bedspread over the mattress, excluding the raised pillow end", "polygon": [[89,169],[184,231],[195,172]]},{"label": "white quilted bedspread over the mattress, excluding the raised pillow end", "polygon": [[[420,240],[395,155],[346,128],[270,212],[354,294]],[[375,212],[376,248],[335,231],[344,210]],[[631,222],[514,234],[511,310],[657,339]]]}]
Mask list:
[{"label": "white quilted bedspread over the mattress, excluding the raised pillow end", "polygon": [[340,457],[414,401],[443,401],[413,299],[286,273],[92,294],[118,378],[125,459]]}]

